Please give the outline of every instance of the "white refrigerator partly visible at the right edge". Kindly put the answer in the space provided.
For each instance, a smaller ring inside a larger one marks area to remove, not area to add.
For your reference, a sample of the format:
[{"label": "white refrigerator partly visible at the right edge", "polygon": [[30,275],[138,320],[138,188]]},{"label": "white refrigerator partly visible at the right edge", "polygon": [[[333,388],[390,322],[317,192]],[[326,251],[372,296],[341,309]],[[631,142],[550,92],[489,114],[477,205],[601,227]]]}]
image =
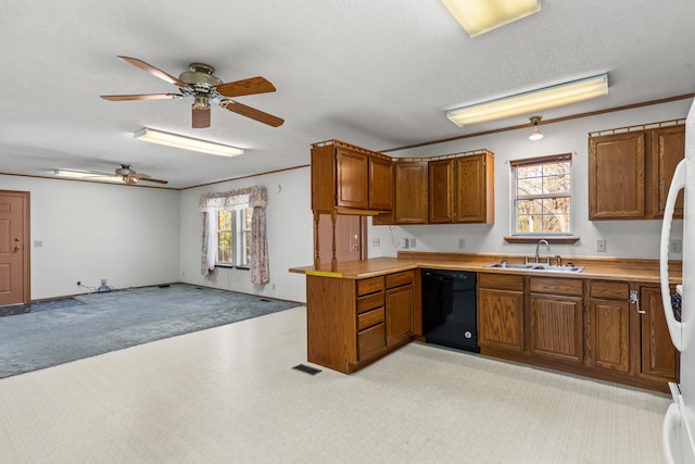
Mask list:
[{"label": "white refrigerator partly visible at the right edge", "polygon": [[[685,190],[683,217],[683,281],[680,321],[671,306],[668,248],[675,198]],[[675,168],[666,202],[660,248],[661,298],[669,333],[681,352],[680,384],[670,384],[673,402],[664,418],[664,451],[667,462],[695,464],[695,103],[685,121],[685,159]]]}]

